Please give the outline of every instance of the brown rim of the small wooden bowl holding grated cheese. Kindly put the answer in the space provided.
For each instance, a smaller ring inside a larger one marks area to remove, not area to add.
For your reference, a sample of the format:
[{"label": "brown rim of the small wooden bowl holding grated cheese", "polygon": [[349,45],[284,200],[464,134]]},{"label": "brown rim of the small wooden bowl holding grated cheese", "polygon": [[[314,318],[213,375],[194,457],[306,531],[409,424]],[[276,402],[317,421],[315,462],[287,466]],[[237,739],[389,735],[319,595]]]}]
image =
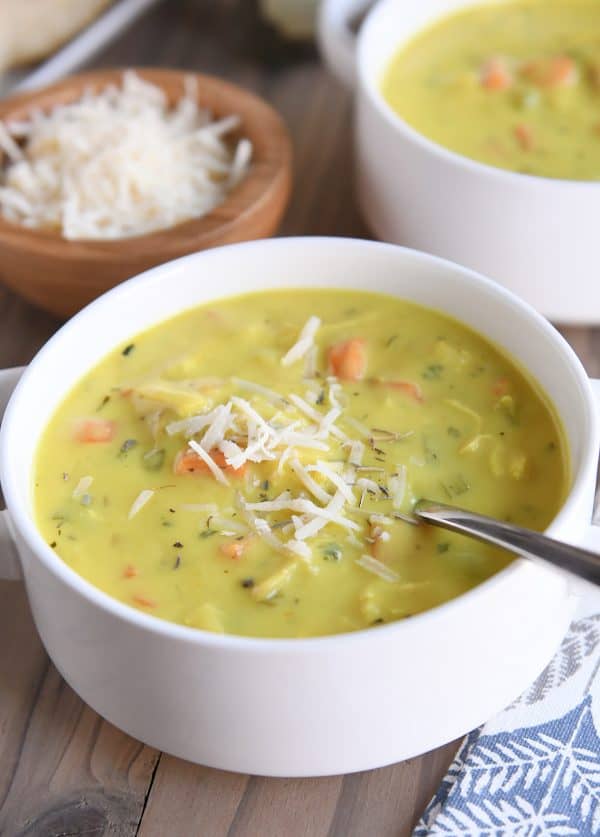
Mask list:
[{"label": "brown rim of the small wooden bowl holding grated cheese", "polygon": [[[202,106],[214,110],[213,102],[220,95],[239,99],[239,109],[223,111],[237,113],[242,118],[241,133],[247,136],[253,145],[251,168],[244,180],[228,194],[223,203],[201,218],[192,218],[173,227],[156,230],[142,235],[111,240],[66,239],[55,230],[42,230],[25,227],[8,221],[0,215],[0,240],[10,240],[11,244],[21,245],[29,250],[43,249],[48,255],[62,258],[80,258],[95,256],[102,261],[119,261],[123,250],[143,248],[146,256],[161,256],[163,261],[170,254],[177,255],[182,248],[190,246],[201,250],[210,242],[223,236],[243,237],[243,230],[252,224],[256,212],[264,208],[276,194],[278,181],[291,176],[292,142],[283,118],[277,111],[255,93],[218,76],[186,70],[155,67],[118,67],[103,70],[91,70],[77,73],[54,84],[28,93],[12,96],[0,101],[0,121],[10,121],[22,117],[23,112],[39,106],[47,108],[56,101],[74,101],[86,87],[106,87],[119,83],[123,73],[133,71],[140,78],[149,81],[168,93],[170,85],[178,84],[183,90],[186,78],[198,82],[199,101]],[[206,94],[208,91],[208,95]],[[73,95],[75,94],[75,95]],[[218,107],[218,101],[216,105]],[[250,131],[245,124],[245,114],[250,110],[258,111],[261,117],[260,131],[252,126]],[[221,114],[219,114],[221,115]],[[258,146],[261,152],[256,156]],[[262,187],[256,193],[256,185],[262,181]],[[203,239],[208,239],[204,243]]]}]

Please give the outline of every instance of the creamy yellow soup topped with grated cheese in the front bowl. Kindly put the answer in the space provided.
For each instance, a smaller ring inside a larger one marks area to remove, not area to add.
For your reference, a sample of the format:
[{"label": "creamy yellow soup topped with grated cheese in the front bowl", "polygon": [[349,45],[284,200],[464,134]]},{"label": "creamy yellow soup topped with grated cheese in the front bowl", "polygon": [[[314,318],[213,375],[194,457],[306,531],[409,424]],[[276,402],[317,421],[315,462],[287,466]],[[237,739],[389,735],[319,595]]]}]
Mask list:
[{"label": "creamy yellow soup topped with grated cheese in the front bowl", "polygon": [[215,632],[305,637],[464,593],[506,554],[415,526],[418,498],[543,529],[567,451],[535,382],[432,310],[254,293],[132,337],[51,418],[52,549],[111,596]]}]

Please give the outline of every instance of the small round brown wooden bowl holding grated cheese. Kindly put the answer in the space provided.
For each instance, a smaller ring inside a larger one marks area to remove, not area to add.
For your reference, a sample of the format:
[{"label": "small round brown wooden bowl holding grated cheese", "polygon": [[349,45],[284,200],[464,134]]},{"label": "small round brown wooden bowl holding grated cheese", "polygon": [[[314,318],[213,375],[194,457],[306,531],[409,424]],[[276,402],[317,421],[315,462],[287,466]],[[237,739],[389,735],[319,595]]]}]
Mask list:
[{"label": "small round brown wooden bowl holding grated cheese", "polygon": [[[87,88],[118,85],[122,72],[82,73],[7,99],[0,102],[0,120],[19,120],[34,107],[49,110],[76,101]],[[266,102],[212,76],[153,69],[136,73],[161,87],[173,104],[183,94],[185,78],[195,77],[200,105],[216,118],[232,113],[241,117],[239,134],[248,137],[254,149],[250,171],[210,214],[133,238],[68,241],[59,232],[32,230],[0,216],[0,280],[61,317],[154,265],[220,244],[272,235],[290,197],[291,141],[283,120]]]}]

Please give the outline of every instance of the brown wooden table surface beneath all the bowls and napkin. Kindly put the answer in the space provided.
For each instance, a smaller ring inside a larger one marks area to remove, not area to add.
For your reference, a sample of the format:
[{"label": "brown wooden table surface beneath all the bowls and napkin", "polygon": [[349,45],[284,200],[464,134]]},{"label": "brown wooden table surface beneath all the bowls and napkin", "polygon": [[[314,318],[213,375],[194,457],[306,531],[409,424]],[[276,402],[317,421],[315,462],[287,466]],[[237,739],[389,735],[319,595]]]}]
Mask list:
[{"label": "brown wooden table surface beneath all the bowls and napkin", "polygon": [[[285,117],[296,186],[281,232],[367,237],[353,201],[351,102],[310,49],[286,51],[250,0],[159,5],[95,62],[188,67],[257,91]],[[1,253],[0,253],[1,258]],[[27,363],[60,322],[0,287],[0,368]],[[600,375],[600,330],[565,329]],[[0,583],[0,835],[402,837],[456,743],[391,767],[321,779],[211,770],[129,738],[50,663],[19,583]]]}]

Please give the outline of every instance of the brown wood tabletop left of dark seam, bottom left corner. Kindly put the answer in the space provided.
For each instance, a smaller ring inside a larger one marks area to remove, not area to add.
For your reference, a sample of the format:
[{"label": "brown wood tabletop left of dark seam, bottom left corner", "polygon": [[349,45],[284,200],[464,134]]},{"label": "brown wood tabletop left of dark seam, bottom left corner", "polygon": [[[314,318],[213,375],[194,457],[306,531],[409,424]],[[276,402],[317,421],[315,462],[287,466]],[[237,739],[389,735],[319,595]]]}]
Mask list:
[{"label": "brown wood tabletop left of dark seam, bottom left corner", "polygon": [[158,752],[67,686],[20,585],[0,585],[0,612],[0,834],[134,835]]}]

